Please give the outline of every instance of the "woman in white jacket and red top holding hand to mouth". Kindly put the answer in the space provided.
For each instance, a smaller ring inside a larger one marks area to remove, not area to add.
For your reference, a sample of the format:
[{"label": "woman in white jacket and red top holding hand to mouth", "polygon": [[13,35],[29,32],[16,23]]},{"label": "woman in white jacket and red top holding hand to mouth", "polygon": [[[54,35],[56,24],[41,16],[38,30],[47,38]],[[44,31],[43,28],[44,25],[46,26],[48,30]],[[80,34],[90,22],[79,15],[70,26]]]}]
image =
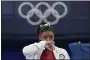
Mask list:
[{"label": "woman in white jacket and red top holding hand to mouth", "polygon": [[26,59],[56,60],[70,59],[65,49],[54,45],[54,32],[49,23],[40,24],[38,30],[38,43],[33,43],[23,48]]}]

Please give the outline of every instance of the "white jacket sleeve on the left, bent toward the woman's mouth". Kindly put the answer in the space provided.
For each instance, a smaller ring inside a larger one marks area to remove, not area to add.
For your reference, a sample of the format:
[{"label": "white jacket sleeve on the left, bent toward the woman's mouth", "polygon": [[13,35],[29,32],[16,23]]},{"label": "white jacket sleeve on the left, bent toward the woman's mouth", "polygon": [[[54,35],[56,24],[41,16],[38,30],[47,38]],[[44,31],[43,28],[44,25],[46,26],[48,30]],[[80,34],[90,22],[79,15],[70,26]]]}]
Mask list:
[{"label": "white jacket sleeve on the left, bent toward the woman's mouth", "polygon": [[33,59],[34,54],[39,50],[39,49],[45,49],[45,44],[46,41],[40,41],[39,43],[34,43],[30,44],[28,46],[25,46],[22,50],[24,56],[26,59]]}]

